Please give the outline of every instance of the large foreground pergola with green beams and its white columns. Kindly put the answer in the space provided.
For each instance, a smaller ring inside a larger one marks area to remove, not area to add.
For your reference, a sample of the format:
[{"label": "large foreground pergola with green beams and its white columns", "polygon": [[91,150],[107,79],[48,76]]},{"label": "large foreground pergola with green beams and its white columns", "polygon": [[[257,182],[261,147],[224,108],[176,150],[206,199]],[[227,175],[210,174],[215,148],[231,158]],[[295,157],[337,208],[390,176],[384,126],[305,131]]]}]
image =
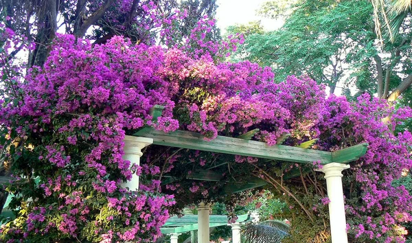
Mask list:
[{"label": "large foreground pergola with green beams and its white columns", "polygon": [[[161,115],[163,107],[155,106],[152,109],[153,119]],[[139,163],[142,155],[141,149],[155,144],[159,146],[170,146],[175,148],[186,148],[191,150],[201,150],[222,154],[236,154],[247,157],[271,159],[277,161],[290,161],[293,163],[312,164],[314,161],[321,161],[323,168],[319,171],[325,173],[328,187],[330,227],[333,243],[347,242],[345,205],[343,200],[342,171],[348,169],[351,161],[356,161],[367,151],[367,143],[344,148],[334,152],[312,150],[293,146],[277,144],[268,146],[264,142],[250,140],[258,130],[251,130],[239,137],[218,136],[212,141],[206,141],[205,137],[197,132],[176,130],[174,132],[162,132],[153,128],[142,128],[133,136],[126,136],[124,159],[132,163]],[[214,173],[213,170],[203,170],[196,174],[187,176],[194,180],[220,181],[221,175]],[[138,177],[125,184],[130,189],[138,189]],[[173,178],[166,178],[162,183],[169,183]],[[260,187],[265,182],[260,178],[251,181],[249,185],[242,187],[227,187],[228,194],[241,192],[245,189]],[[198,242],[209,243],[209,206],[201,205],[198,207]],[[233,243],[240,243],[233,241]]]}]

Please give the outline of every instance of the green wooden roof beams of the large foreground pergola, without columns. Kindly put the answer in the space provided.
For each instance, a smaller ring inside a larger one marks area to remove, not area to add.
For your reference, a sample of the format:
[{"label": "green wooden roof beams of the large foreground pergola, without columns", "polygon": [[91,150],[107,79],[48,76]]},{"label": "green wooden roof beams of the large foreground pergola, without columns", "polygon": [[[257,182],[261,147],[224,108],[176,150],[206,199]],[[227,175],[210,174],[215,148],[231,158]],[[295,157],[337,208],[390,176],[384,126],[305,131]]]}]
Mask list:
[{"label": "green wooden roof beams of the large foreground pergola, without columns", "polygon": [[[153,106],[151,115],[153,121],[157,121],[157,117],[161,116],[163,106]],[[259,132],[259,129],[253,129],[238,137],[224,137],[217,136],[212,141],[206,141],[205,137],[198,132],[190,132],[185,130],[176,130],[174,132],[162,132],[150,127],[141,128],[135,132],[133,136],[147,137],[153,139],[153,144],[159,146],[170,146],[175,148],[185,148],[190,150],[202,150],[208,152],[216,152],[222,154],[235,154],[247,157],[256,157],[268,160],[290,161],[293,163],[304,163],[312,165],[314,161],[321,161],[322,165],[329,163],[350,163],[356,161],[363,156],[367,151],[367,143],[361,143],[356,146],[344,148],[334,152],[327,152],[321,150],[312,150],[309,147],[313,141],[308,141],[301,146],[284,146],[282,143],[290,136],[286,133],[281,136],[277,144],[268,146],[267,143],[261,141],[252,141],[251,138]],[[186,179],[196,181],[215,181],[222,179],[221,173],[216,173],[213,170],[227,163],[213,165],[206,170],[198,170],[194,174],[185,176]],[[300,171],[292,170],[284,174],[285,179],[295,178],[300,176]],[[176,181],[176,178],[165,174],[162,179],[162,185]],[[223,188],[225,194],[233,194],[242,192],[247,189],[262,187],[266,182],[260,178],[251,179],[246,185],[230,184]]]}]

